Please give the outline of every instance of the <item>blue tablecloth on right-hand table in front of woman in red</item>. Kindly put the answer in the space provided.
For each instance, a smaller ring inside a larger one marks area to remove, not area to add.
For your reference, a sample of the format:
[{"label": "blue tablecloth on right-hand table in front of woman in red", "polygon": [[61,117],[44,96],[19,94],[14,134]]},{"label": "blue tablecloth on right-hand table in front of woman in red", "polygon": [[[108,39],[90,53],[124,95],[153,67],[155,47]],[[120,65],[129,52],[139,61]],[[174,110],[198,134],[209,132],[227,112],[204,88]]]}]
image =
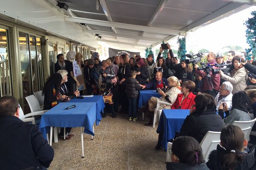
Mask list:
[{"label": "blue tablecloth on right-hand table in front of woman in red", "polygon": [[180,131],[181,126],[189,115],[189,109],[163,109],[157,127],[157,133],[163,130],[161,144],[167,150],[168,140],[175,137],[175,132]]}]

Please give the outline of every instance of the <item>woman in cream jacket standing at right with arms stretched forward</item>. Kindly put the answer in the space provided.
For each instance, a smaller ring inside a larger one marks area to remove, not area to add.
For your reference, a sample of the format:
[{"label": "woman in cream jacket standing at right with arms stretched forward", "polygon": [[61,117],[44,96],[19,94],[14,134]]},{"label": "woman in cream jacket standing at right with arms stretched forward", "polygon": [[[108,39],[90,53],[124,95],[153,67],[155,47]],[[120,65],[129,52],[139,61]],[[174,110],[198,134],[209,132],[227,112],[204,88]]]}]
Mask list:
[{"label": "woman in cream jacket standing at right with arms stretched forward", "polygon": [[233,85],[232,94],[236,93],[237,91],[244,91],[244,89],[247,87],[247,70],[239,62],[240,58],[240,56],[233,57],[230,68],[230,76],[225,75],[221,70],[219,71],[221,78],[231,82]]}]

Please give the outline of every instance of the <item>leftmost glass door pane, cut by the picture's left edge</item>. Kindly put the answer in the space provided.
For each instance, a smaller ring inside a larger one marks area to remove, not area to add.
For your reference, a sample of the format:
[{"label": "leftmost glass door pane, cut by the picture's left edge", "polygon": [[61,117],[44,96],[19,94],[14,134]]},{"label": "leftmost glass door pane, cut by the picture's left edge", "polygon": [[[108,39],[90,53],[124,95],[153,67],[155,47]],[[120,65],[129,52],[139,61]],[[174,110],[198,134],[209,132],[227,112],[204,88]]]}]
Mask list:
[{"label": "leftmost glass door pane, cut by the picture's left edge", "polygon": [[11,62],[9,52],[9,30],[0,26],[0,93],[12,95]]}]

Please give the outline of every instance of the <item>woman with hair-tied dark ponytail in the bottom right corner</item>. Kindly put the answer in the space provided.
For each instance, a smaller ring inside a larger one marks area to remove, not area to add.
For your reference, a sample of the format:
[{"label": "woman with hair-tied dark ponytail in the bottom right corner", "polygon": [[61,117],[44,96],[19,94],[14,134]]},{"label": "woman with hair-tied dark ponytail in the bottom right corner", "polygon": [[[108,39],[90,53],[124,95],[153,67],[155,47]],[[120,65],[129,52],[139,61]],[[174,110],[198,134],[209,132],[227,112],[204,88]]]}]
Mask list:
[{"label": "woman with hair-tied dark ponytail in the bottom right corner", "polygon": [[226,125],[221,130],[221,143],[209,155],[210,170],[255,170],[255,149],[248,153],[248,141],[240,127]]}]

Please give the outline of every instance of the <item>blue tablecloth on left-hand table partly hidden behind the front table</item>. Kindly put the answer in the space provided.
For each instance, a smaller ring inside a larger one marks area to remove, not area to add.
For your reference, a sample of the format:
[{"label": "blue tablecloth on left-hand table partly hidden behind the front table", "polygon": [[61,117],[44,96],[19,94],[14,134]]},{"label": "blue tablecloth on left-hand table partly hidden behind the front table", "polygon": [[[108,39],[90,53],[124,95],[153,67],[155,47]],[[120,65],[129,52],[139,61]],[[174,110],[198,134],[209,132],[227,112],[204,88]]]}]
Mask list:
[{"label": "blue tablecloth on left-hand table partly hidden behind the front table", "polygon": [[104,100],[101,95],[93,96],[93,97],[84,97],[84,99],[74,98],[74,99],[71,99],[69,102],[70,103],[73,103],[73,102],[84,102],[84,103],[96,102],[96,125],[99,125],[99,122],[102,119],[100,112],[102,111],[102,113],[104,113],[104,108],[105,108]]}]

